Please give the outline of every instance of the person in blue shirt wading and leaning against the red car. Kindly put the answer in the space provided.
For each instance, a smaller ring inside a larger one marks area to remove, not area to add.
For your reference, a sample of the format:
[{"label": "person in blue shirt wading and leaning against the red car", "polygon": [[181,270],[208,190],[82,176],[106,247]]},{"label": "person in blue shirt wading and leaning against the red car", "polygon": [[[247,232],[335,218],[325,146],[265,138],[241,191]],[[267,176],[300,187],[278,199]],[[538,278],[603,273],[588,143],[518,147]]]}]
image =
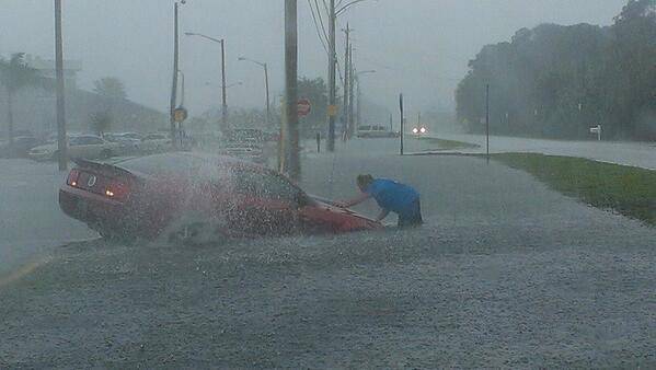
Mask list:
[{"label": "person in blue shirt wading and leaning against the red car", "polygon": [[412,186],[387,178],[373,178],[371,175],[358,175],[357,185],[362,193],[360,196],[338,204],[341,207],[352,207],[369,198],[373,198],[381,208],[377,221],[384,219],[390,212],[399,216],[399,227],[416,227],[422,224],[422,208],[419,193]]}]

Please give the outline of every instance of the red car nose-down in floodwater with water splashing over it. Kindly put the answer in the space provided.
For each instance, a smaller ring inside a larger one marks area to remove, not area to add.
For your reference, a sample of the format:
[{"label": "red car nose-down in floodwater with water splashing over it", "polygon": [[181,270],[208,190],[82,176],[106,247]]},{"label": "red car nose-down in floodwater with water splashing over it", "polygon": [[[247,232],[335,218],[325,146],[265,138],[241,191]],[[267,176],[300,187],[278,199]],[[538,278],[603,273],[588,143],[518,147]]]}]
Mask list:
[{"label": "red car nose-down in floodwater with water splashing over it", "polygon": [[80,160],[59,207],[106,238],[343,233],[382,226],[307,195],[260,165],[189,152],[113,164]]}]

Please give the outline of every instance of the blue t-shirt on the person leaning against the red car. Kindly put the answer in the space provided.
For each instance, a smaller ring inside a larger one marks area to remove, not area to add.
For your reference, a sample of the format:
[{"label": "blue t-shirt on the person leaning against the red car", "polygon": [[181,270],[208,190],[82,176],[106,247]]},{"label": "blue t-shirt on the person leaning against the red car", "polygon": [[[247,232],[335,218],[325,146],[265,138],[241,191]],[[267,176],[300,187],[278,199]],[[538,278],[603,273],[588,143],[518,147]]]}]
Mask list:
[{"label": "blue t-shirt on the person leaning against the red car", "polygon": [[387,178],[376,178],[365,189],[382,209],[395,213],[412,211],[413,204],[419,199],[419,193],[412,186]]}]

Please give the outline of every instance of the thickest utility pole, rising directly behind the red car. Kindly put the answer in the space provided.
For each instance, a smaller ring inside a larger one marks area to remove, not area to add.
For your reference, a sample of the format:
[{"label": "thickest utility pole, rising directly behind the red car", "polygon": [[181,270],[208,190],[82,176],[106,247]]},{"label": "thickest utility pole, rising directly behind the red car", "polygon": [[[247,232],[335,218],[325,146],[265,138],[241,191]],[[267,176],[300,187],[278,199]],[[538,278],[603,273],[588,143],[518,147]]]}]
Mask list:
[{"label": "thickest utility pole, rising directly behind the red car", "polygon": [[[283,128],[286,172],[300,177],[298,137],[298,26],[297,2],[285,0],[285,124]],[[267,104],[268,105],[268,104]]]}]

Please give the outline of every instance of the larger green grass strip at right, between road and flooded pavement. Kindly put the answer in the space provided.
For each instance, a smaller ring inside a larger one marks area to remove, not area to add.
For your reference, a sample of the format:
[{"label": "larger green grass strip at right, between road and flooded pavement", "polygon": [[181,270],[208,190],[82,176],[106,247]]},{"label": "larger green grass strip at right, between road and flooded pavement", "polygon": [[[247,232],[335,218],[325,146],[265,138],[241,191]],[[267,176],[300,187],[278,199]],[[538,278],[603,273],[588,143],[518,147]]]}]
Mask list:
[{"label": "larger green grass strip at right, between road and flooded pavement", "polygon": [[493,154],[492,159],[586,204],[656,226],[656,171],[536,153]]}]

